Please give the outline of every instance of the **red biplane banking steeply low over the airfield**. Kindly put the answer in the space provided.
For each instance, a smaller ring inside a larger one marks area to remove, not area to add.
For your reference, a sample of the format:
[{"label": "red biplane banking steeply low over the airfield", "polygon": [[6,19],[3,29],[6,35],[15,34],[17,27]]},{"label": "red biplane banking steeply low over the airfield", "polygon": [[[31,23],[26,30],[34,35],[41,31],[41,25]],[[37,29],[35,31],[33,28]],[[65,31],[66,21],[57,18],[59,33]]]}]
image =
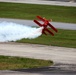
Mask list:
[{"label": "red biplane banking steeply low over the airfield", "polygon": [[41,20],[43,22],[43,24],[41,24],[39,21],[37,20],[34,20],[34,22],[39,25],[40,27],[43,27],[43,30],[42,30],[42,34],[45,34],[47,35],[46,32],[50,33],[52,36],[54,36],[54,33],[49,30],[47,27],[51,27],[55,32],[58,32],[58,30],[53,26],[51,25],[49,22],[52,21],[52,20],[47,20],[46,18],[42,18],[41,16],[36,16],[39,20]]}]

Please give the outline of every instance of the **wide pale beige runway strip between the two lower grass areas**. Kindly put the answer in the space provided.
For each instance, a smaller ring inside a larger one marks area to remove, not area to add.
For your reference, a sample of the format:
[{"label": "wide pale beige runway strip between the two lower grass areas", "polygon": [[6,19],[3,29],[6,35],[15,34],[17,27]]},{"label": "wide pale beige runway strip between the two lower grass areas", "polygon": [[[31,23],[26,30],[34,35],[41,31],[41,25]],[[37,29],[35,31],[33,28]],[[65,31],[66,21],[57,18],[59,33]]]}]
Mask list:
[{"label": "wide pale beige runway strip between the two lower grass areas", "polygon": [[76,64],[76,48],[8,42],[0,43],[0,55],[53,60],[54,63]]}]

